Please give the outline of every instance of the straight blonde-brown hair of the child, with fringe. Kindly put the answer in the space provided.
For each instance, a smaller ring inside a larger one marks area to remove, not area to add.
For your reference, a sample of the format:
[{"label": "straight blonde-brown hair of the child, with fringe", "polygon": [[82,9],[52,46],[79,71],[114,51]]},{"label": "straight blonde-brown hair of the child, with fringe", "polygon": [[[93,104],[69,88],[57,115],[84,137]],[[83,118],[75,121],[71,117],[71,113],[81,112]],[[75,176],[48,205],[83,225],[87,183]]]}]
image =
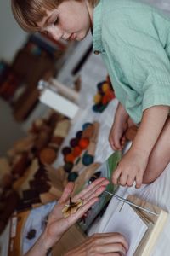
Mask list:
[{"label": "straight blonde-brown hair of the child, with fringe", "polygon": [[[15,20],[26,32],[37,32],[37,22],[47,15],[47,10],[56,9],[57,6],[66,0],[11,0],[11,8]],[[68,1],[68,0],[67,0]],[[82,0],[76,0],[82,1]],[[88,0],[95,6],[99,0]]]}]

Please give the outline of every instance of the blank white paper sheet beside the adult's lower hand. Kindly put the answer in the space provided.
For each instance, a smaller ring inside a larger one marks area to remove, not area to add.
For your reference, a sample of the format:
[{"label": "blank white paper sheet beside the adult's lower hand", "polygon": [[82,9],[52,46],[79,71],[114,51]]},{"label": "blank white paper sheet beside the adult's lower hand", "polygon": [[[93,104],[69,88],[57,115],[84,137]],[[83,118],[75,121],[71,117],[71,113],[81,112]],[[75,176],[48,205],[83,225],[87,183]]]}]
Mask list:
[{"label": "blank white paper sheet beside the adult's lower hand", "polygon": [[132,256],[147,229],[147,225],[133,208],[127,203],[120,202],[104,232],[119,232],[125,236],[129,244],[127,256]]}]

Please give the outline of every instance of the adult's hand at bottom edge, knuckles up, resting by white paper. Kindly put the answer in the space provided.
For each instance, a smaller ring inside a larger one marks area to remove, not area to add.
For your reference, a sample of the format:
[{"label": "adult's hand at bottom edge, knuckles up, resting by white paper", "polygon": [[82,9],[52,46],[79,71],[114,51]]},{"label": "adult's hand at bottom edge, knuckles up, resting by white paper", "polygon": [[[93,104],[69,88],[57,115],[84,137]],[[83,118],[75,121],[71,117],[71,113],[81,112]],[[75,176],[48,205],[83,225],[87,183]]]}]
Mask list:
[{"label": "adult's hand at bottom edge, knuckles up, resting by white paper", "polygon": [[119,233],[100,233],[88,237],[80,246],[65,253],[65,256],[120,256],[126,255],[128,244]]}]

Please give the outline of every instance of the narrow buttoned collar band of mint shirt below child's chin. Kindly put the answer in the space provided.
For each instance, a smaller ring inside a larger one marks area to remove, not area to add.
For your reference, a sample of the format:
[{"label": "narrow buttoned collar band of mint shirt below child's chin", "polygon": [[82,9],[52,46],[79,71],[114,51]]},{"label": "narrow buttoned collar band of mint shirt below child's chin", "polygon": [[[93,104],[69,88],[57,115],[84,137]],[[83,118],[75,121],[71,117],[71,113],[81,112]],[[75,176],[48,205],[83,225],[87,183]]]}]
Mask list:
[{"label": "narrow buttoned collar band of mint shirt below child's chin", "polygon": [[94,8],[93,51],[95,54],[99,54],[103,49],[101,40],[102,5],[103,0],[100,0]]}]

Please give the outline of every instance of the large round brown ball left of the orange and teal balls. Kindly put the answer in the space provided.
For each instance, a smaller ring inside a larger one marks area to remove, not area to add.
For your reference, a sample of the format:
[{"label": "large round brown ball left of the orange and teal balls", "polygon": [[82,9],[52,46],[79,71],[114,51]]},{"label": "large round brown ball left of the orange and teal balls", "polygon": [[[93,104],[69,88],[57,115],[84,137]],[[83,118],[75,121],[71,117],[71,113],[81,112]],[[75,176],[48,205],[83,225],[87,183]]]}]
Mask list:
[{"label": "large round brown ball left of the orange and teal balls", "polygon": [[43,148],[40,151],[39,158],[42,164],[52,164],[57,154],[54,148]]}]

